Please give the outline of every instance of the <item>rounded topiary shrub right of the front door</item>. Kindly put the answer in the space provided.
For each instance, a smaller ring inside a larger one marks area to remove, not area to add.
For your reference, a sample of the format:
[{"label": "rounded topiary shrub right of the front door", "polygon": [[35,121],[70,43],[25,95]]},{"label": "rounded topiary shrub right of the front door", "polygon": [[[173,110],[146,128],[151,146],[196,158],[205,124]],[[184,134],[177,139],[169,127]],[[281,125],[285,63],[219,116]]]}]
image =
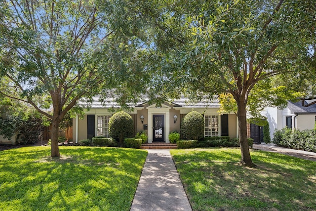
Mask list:
[{"label": "rounded topiary shrub right of the front door", "polygon": [[181,136],[186,140],[199,140],[204,137],[204,117],[197,111],[188,113],[182,122]]}]

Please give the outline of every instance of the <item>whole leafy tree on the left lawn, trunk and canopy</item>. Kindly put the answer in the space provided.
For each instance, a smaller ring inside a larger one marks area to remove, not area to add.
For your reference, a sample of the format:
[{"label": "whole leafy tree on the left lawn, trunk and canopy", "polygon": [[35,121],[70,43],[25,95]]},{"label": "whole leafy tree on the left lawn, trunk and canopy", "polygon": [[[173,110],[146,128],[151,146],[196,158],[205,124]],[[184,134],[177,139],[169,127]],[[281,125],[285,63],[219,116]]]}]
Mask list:
[{"label": "whole leafy tree on the left lawn, trunk and canopy", "polygon": [[51,120],[52,157],[59,124],[80,98],[116,88],[123,103],[140,90],[146,42],[136,9],[124,0],[0,0],[0,93]]}]

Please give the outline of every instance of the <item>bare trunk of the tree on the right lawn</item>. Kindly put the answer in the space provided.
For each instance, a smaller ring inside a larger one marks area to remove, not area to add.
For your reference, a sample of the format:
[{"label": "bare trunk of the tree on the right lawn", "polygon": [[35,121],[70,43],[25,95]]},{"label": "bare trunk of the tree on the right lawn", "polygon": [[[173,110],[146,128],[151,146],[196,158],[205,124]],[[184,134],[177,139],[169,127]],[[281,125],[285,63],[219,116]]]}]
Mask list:
[{"label": "bare trunk of the tree on the right lawn", "polygon": [[247,167],[256,167],[254,163],[252,163],[248,145],[248,137],[247,137],[247,122],[246,122],[246,104],[244,102],[238,102],[238,132],[239,132],[239,143],[240,143],[240,151],[241,151],[241,160],[240,164],[242,166]]}]

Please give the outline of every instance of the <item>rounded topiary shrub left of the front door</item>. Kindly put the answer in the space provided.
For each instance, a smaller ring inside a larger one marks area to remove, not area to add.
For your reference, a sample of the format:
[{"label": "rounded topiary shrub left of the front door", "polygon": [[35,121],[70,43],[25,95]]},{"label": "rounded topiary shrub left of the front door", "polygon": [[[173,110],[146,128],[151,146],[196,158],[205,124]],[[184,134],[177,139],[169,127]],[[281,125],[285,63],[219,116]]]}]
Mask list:
[{"label": "rounded topiary shrub left of the front door", "polygon": [[109,120],[109,132],[112,138],[119,139],[120,146],[123,146],[124,138],[130,138],[134,133],[134,121],[124,111],[115,113]]}]

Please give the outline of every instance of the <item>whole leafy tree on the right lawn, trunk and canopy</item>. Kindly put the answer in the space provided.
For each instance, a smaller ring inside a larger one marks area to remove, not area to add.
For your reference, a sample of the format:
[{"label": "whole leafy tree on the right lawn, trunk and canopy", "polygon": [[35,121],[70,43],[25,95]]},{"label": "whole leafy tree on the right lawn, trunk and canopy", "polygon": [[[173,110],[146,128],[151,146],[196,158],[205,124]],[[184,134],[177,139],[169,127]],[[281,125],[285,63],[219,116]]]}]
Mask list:
[{"label": "whole leafy tree on the right lawn, trunk and canopy", "polygon": [[156,71],[163,73],[159,89],[194,98],[231,94],[237,103],[240,164],[254,167],[246,130],[249,95],[276,75],[308,71],[306,58],[316,38],[315,2],[179,0],[151,14],[160,34],[173,40],[167,51],[161,40],[156,42],[162,46],[153,57],[160,65]]}]

